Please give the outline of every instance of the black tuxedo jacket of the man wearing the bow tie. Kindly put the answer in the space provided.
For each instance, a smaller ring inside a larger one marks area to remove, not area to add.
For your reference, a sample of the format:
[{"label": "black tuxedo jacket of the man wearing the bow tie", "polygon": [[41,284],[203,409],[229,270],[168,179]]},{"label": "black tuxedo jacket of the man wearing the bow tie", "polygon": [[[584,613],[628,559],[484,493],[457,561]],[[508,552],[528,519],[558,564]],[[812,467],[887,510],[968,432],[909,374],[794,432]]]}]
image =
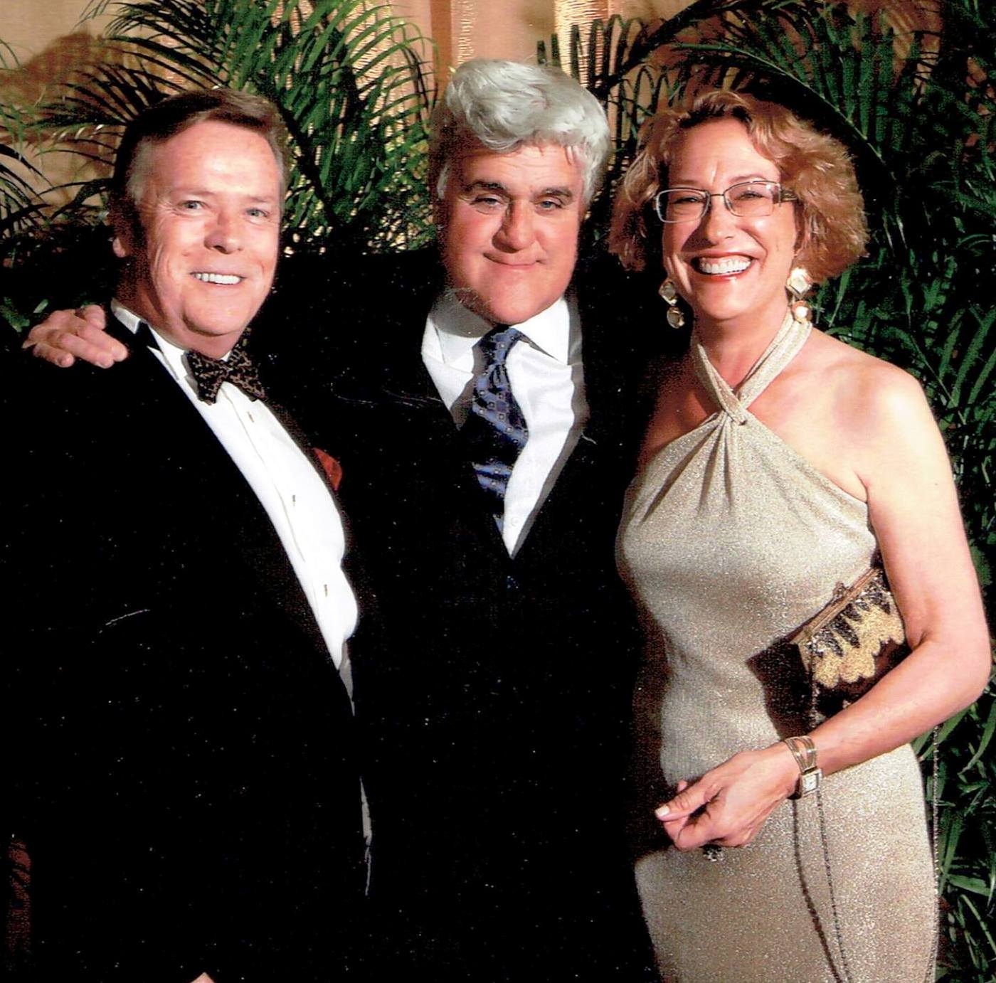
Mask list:
[{"label": "black tuxedo jacket of the man wearing the bow tie", "polygon": [[145,349],[25,360],[4,391],[37,978],[338,979],[363,892],[352,713],[265,511]]}]

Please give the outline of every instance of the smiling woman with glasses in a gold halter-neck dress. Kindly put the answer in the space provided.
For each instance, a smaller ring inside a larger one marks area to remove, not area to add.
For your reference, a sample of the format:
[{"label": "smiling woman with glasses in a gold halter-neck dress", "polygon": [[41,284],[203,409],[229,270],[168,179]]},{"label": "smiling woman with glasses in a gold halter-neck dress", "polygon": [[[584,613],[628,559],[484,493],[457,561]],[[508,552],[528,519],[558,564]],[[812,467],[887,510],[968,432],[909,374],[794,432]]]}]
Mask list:
[{"label": "smiling woman with glasses in a gold halter-neck dress", "polygon": [[[636,825],[656,806],[662,829],[636,878],[666,980],[933,978],[907,742],[978,695],[988,633],[919,387],[798,300],[865,235],[844,148],[733,93],[653,123],[617,204],[617,252],[641,265],[659,243],[661,294],[694,317],[619,540],[646,613]],[[880,567],[910,651],[850,702],[786,639]]]}]

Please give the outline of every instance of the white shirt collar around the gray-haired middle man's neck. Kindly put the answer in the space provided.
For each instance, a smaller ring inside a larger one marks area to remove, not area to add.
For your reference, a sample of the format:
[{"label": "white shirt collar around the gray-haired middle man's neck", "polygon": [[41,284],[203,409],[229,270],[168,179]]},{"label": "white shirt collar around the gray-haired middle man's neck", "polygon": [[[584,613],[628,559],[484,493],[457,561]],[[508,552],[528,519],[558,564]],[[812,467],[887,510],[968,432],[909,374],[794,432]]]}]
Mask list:
[{"label": "white shirt collar around the gray-haired middle man's neck", "polygon": [[[561,297],[545,311],[511,327],[518,328],[536,348],[567,365],[577,321],[574,305]],[[494,325],[467,310],[451,291],[446,291],[432,306],[428,327],[428,334],[438,342],[442,361],[452,364],[466,357]]]}]

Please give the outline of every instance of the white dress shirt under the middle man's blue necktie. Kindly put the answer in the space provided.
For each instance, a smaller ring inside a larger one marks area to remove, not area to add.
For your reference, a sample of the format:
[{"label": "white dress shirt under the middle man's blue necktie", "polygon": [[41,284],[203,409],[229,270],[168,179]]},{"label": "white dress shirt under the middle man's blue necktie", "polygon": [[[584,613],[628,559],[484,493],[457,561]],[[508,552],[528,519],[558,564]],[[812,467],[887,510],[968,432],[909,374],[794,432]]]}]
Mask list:
[{"label": "white dress shirt under the middle man's blue necktie", "polygon": [[[443,294],[422,340],[422,361],[457,426],[467,418],[474,378],[484,370],[476,344],[494,326]],[[521,325],[525,336],[505,363],[529,439],[505,492],[502,539],[510,556],[522,546],[585,424],[588,402],[581,365],[581,322],[575,302],[561,298]]]}]

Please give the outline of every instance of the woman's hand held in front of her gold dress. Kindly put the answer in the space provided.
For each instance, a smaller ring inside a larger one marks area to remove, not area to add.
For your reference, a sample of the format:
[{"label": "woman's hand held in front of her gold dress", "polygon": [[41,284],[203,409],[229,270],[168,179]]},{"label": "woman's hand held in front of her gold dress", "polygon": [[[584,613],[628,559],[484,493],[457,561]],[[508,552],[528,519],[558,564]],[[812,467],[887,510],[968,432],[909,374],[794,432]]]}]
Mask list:
[{"label": "woman's hand held in front of her gold dress", "polygon": [[695,782],[679,782],[678,794],[655,815],[678,850],[743,847],[792,795],[798,778],[799,767],[784,744],[742,751]]}]

